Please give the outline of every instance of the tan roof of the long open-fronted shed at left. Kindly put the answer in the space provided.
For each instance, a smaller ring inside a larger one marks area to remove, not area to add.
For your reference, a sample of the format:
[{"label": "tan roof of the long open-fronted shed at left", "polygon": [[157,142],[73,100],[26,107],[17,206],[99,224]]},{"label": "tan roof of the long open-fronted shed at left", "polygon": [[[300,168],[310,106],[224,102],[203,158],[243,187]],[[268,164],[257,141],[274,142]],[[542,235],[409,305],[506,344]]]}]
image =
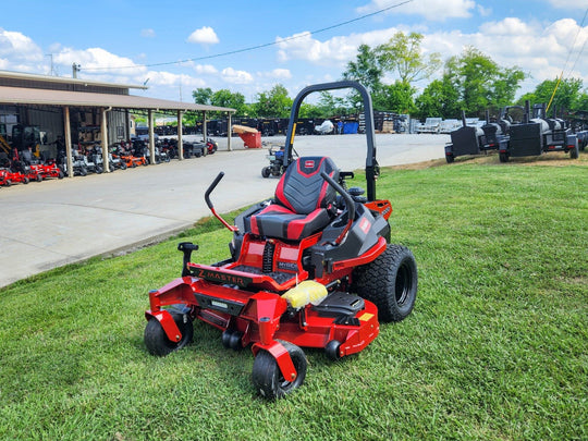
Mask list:
[{"label": "tan roof of the long open-fronted shed at left", "polygon": [[[56,85],[60,87],[56,89]],[[71,88],[68,89],[68,86]],[[99,107],[161,112],[177,110],[235,111],[235,109],[225,107],[128,95],[128,88],[147,89],[146,86],[0,71],[0,103],[4,105]]]}]

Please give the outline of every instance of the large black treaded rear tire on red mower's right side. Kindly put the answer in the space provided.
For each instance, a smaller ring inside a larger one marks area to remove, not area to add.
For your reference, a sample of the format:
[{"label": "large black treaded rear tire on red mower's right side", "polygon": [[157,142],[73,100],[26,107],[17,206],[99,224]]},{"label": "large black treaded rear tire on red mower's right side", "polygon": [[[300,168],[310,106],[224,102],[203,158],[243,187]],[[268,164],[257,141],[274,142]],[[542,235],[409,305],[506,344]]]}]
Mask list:
[{"label": "large black treaded rear tire on red mower's right side", "polygon": [[418,273],[413,253],[401,245],[388,245],[370,264],[355,270],[353,291],[378,307],[382,322],[401,321],[413,310]]}]

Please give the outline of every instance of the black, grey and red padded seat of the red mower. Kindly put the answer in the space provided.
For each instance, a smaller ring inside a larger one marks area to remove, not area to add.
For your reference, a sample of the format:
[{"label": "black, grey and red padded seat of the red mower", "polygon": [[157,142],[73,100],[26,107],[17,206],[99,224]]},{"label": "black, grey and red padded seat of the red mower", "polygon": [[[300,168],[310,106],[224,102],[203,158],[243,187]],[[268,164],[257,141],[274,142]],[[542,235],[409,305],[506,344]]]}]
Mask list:
[{"label": "black, grey and red padded seat of the red mower", "polygon": [[252,216],[252,233],[299,241],[327,226],[336,194],[320,175],[322,171],[339,180],[331,158],[304,157],[292,162],[278,183],[274,204]]}]

